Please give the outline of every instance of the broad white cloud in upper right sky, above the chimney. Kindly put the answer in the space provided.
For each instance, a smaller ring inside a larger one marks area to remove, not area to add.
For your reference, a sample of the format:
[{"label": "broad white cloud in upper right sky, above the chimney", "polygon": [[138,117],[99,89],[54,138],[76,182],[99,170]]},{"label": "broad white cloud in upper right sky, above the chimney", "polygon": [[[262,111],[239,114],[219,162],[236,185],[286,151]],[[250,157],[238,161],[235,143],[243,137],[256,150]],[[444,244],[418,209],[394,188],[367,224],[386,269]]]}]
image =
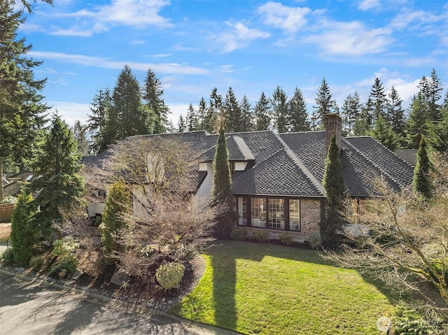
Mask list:
[{"label": "broad white cloud in upper right sky, above the chimney", "polygon": [[361,22],[327,22],[321,34],[309,35],[302,39],[320,48],[326,55],[346,55],[360,57],[387,50],[395,41],[392,29],[366,29]]}]

